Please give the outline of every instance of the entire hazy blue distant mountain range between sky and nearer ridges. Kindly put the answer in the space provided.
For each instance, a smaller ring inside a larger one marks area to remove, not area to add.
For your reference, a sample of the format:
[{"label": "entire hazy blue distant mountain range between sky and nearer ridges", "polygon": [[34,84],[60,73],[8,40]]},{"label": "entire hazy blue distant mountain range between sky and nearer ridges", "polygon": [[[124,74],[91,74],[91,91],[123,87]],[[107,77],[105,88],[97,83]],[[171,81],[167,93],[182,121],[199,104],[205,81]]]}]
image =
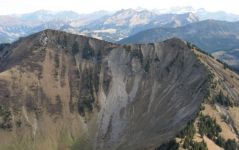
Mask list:
[{"label": "entire hazy blue distant mountain range between sky and nearer ridges", "polygon": [[239,16],[191,7],[169,10],[123,9],[91,14],[39,10],[22,15],[0,16],[0,43],[13,42],[19,37],[44,29],[62,30],[115,42],[143,30],[181,27],[204,19],[237,21]]}]

